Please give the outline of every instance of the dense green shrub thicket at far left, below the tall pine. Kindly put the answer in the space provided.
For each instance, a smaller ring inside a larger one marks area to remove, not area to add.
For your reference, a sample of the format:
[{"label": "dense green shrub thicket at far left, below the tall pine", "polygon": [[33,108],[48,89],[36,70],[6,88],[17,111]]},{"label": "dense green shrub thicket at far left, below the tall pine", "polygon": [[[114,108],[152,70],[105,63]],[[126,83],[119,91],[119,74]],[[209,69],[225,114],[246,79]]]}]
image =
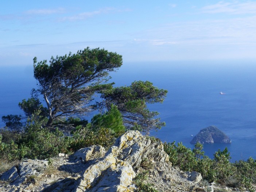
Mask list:
[{"label": "dense green shrub thicket at far left, below the tall pine", "polygon": [[56,156],[58,153],[69,153],[71,137],[65,137],[58,129],[42,128],[42,121],[38,118],[40,111],[36,111],[27,119],[24,133],[11,133],[5,131],[5,137],[10,135],[13,139],[0,137],[0,152],[2,157],[9,161],[27,158],[44,159]]}]

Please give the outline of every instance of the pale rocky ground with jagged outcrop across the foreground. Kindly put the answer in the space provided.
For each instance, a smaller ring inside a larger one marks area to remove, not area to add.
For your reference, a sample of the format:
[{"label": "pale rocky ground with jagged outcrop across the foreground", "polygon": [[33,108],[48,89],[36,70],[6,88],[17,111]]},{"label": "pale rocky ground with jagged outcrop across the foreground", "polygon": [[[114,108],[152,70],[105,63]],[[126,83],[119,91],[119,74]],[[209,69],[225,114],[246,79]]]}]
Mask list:
[{"label": "pale rocky ground with jagged outcrop across the foreground", "polygon": [[[162,142],[137,131],[118,138],[108,152],[91,146],[47,162],[26,160],[3,173],[0,192],[133,192],[133,180],[143,172],[148,174],[146,183],[158,192],[206,191],[200,173],[172,167]],[[21,179],[31,175],[36,175],[36,183]]]}]

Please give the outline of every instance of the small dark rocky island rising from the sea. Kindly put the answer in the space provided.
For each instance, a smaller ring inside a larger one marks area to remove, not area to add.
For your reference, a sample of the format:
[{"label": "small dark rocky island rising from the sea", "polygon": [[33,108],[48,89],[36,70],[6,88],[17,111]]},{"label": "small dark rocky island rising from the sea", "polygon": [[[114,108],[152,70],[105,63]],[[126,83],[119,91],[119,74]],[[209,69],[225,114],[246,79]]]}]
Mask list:
[{"label": "small dark rocky island rising from the sea", "polygon": [[200,132],[190,141],[191,144],[212,144],[212,143],[231,143],[230,138],[216,126],[209,126],[201,129]]}]

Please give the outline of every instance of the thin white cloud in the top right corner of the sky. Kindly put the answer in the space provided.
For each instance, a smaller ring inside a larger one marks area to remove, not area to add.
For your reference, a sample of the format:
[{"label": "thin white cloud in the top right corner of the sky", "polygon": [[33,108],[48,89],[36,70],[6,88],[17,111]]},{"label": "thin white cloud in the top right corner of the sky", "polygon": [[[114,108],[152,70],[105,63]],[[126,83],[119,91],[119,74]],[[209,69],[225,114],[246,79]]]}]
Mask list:
[{"label": "thin white cloud in the top right corner of the sky", "polygon": [[229,13],[229,14],[255,14],[256,2],[247,1],[239,3],[238,1],[224,2],[207,5],[202,8],[203,13]]}]

